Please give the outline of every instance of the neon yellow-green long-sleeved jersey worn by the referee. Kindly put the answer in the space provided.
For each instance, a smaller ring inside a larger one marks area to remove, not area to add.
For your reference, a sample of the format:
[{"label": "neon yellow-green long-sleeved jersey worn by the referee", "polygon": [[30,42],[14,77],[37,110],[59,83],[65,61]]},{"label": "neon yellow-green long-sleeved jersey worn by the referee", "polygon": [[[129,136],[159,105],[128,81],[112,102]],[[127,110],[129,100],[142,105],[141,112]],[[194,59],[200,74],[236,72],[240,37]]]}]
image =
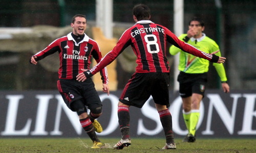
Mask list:
[{"label": "neon yellow-green long-sleeved jersey worn by the referee", "polygon": [[[202,35],[203,36],[199,39],[195,39],[193,37],[190,38],[187,43],[209,54],[220,50],[218,44],[214,40],[207,37],[204,33]],[[187,34],[182,34],[179,36],[179,39],[182,40],[185,36],[187,36]],[[180,48],[174,45],[169,48],[169,52],[171,55],[176,55],[180,53],[180,71],[183,71],[185,73],[204,73],[208,72],[209,70],[208,60],[183,52]],[[218,52],[216,55],[221,57],[220,52]],[[226,72],[223,64],[213,63],[213,65],[216,68],[216,71],[218,72],[221,81],[227,81]]]}]

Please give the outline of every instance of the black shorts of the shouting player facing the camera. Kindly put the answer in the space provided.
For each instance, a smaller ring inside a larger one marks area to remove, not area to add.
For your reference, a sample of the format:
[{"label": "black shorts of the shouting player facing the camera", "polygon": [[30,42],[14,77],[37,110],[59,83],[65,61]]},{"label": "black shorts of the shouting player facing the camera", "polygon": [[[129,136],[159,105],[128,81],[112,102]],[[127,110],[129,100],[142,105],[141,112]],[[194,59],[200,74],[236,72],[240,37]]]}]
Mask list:
[{"label": "black shorts of the shouting player facing the camera", "polygon": [[71,107],[71,103],[78,100],[82,101],[83,104],[79,104],[77,107],[85,108],[88,106],[90,109],[90,106],[92,105],[97,105],[98,107],[102,106],[98,92],[96,91],[91,78],[84,82],[78,82],[77,80],[59,79],[57,81],[57,87],[66,105],[72,111],[75,110],[73,107]]}]

